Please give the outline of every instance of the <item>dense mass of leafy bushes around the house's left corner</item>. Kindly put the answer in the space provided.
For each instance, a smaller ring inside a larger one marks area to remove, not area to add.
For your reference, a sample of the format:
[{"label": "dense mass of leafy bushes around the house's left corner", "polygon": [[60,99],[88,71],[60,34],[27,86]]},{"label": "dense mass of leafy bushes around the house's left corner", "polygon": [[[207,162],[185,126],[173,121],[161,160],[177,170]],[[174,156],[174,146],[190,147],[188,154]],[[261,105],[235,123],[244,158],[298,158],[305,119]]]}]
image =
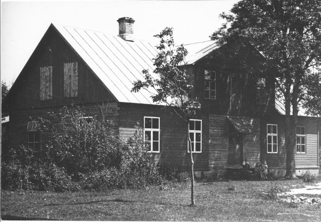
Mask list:
[{"label": "dense mass of leafy bushes around the house's left corner", "polygon": [[[38,119],[43,137],[52,138],[42,144],[41,153],[35,156],[25,146],[7,152],[1,162],[2,188],[73,191],[163,183],[138,127],[125,144],[104,118],[89,120],[80,109],[66,107],[51,116],[53,121]],[[186,177],[179,176],[182,181]]]}]

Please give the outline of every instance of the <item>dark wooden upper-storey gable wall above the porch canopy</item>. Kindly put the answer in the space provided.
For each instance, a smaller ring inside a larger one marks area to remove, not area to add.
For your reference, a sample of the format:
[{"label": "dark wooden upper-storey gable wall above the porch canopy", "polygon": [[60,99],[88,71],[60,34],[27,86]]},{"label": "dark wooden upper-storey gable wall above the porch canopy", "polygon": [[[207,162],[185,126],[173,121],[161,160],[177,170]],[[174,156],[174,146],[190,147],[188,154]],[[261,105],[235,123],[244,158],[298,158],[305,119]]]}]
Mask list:
[{"label": "dark wooden upper-storey gable wall above the porch canopy", "polygon": [[[193,96],[197,97],[204,112],[236,116],[264,116],[274,109],[274,81],[270,76],[265,79],[266,102],[257,103],[256,81],[262,74],[250,74],[235,64],[230,64],[214,51],[208,57],[185,69],[191,76]],[[206,99],[204,70],[216,72],[216,98]]]}]

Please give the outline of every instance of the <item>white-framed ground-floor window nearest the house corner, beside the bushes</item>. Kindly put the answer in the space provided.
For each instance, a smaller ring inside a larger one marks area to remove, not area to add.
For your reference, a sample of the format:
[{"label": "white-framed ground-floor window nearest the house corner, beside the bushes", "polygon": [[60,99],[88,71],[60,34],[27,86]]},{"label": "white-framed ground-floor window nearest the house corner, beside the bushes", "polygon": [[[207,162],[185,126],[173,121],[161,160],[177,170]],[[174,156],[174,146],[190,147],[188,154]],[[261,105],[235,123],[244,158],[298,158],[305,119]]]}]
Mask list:
[{"label": "white-framed ground-floor window nearest the house corner, beside the bushes", "polygon": [[149,151],[154,153],[160,152],[160,118],[144,117],[144,141],[149,146]]}]

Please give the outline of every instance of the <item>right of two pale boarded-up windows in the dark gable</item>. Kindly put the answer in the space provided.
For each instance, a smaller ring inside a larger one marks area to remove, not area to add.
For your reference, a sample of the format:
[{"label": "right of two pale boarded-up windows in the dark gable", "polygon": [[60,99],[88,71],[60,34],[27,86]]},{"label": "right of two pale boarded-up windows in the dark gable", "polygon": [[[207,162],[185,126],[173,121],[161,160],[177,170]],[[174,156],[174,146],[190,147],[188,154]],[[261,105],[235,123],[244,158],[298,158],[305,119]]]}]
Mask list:
[{"label": "right of two pale boarded-up windows in the dark gable", "polygon": [[64,63],[64,90],[65,97],[78,96],[78,63]]}]

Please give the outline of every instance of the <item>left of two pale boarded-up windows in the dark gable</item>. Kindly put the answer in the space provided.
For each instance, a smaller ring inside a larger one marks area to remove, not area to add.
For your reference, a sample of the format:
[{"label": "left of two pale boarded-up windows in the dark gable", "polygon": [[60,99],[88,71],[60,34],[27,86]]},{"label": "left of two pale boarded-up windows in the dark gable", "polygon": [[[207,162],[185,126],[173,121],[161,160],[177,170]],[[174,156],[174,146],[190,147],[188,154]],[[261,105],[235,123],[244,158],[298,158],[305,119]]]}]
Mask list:
[{"label": "left of two pale boarded-up windows in the dark gable", "polygon": [[52,99],[52,66],[40,67],[40,100]]}]

